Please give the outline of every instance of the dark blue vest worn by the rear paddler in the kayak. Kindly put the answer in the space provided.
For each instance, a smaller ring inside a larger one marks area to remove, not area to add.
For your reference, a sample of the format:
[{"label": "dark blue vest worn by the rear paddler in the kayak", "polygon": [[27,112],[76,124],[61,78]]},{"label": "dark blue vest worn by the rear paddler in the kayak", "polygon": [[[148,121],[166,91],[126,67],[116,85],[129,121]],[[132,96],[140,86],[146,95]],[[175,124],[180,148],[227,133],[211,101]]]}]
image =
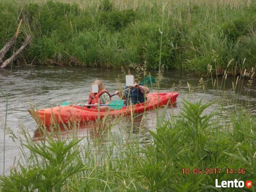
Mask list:
[{"label": "dark blue vest worn by the rear paddler in the kayak", "polygon": [[[128,86],[125,87],[125,89],[129,88]],[[125,97],[126,97],[126,105],[130,104],[137,104],[137,103],[143,103],[145,102],[145,95],[141,92],[141,90],[138,87],[131,87],[128,90],[125,90]]]}]

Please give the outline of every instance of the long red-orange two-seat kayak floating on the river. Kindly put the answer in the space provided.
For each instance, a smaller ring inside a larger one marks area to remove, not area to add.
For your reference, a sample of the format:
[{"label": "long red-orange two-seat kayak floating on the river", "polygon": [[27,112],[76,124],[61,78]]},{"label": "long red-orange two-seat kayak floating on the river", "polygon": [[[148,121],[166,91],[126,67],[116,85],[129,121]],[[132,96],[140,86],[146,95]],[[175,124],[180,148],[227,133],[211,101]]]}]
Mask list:
[{"label": "long red-orange two-seat kayak floating on the river", "polygon": [[96,120],[97,118],[103,119],[105,115],[109,116],[121,116],[130,115],[133,113],[142,113],[144,111],[153,110],[158,107],[176,102],[178,97],[178,92],[160,92],[149,93],[146,95],[146,102],[141,104],[136,104],[132,106],[125,106],[120,110],[110,109],[98,110],[98,109],[88,109],[86,107],[80,107],[75,105],[68,106],[57,106],[41,110],[29,110],[30,115],[35,119],[42,122],[44,125],[51,125],[53,123],[67,123],[72,120],[80,120],[81,122]]}]

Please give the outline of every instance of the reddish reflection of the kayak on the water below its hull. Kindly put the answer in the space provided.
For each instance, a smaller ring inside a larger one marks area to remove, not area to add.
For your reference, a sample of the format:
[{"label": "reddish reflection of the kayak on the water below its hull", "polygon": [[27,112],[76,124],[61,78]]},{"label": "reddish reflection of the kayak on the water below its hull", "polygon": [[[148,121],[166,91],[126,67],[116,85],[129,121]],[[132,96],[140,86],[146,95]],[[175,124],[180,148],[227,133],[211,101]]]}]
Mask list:
[{"label": "reddish reflection of the kayak on the water below its hull", "polygon": [[45,140],[47,134],[52,137],[82,138],[89,135],[91,139],[104,140],[108,130],[121,128],[125,132],[138,133],[146,129],[146,113],[131,118],[131,116],[119,117],[119,119],[94,120],[89,122],[73,122],[68,124],[41,125],[34,132],[33,140]]}]

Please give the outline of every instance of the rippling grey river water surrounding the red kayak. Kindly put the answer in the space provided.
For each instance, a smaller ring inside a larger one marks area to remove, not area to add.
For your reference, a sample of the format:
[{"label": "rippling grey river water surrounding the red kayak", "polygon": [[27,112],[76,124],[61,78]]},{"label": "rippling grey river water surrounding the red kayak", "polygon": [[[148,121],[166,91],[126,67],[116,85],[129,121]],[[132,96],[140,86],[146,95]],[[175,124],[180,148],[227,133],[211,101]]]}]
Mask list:
[{"label": "rippling grey river water surrounding the red kayak", "polygon": [[[118,87],[116,82],[118,74],[121,74],[120,70],[81,67],[30,66],[13,67],[12,70],[1,69],[0,90],[8,98],[6,125],[13,130],[15,135],[19,135],[19,127],[24,124],[33,137],[33,135],[36,135],[37,126],[35,120],[28,113],[31,105],[37,105],[39,109],[42,109],[59,105],[61,102],[85,103],[88,99],[91,83],[95,79],[102,80],[105,88],[112,94]],[[156,72],[151,71],[151,74],[155,76]],[[123,87],[125,85],[124,79],[124,77],[121,78]],[[203,80],[207,84],[205,85],[206,90],[203,90],[198,85],[199,80],[200,77],[188,72],[174,70],[164,72],[161,92],[179,92],[176,105],[168,109],[169,113],[178,114],[182,106],[182,100],[187,99],[191,101],[202,100],[203,103],[216,101],[208,108],[208,112],[221,110],[219,102],[222,102],[222,106],[224,104],[226,109],[231,110],[233,109],[232,103],[236,103],[236,105],[247,103],[246,110],[256,115],[255,81],[248,87],[248,79],[242,78],[236,85],[236,78],[234,77],[228,77],[225,83],[222,77],[218,77],[217,80],[204,77]],[[214,81],[215,87],[213,89]],[[223,89],[225,91],[218,90],[218,87],[224,87],[224,85],[225,88]],[[233,85],[236,86],[236,94],[233,92]],[[156,90],[151,89],[151,92],[156,92]],[[113,100],[115,99],[118,99],[118,97],[113,97]],[[225,104],[228,100],[234,102]],[[3,173],[5,108],[6,99],[0,94],[0,174]],[[155,122],[156,114],[147,112],[146,126],[154,129]],[[18,147],[12,138],[6,135],[5,170],[10,170],[15,156],[20,156]]]}]

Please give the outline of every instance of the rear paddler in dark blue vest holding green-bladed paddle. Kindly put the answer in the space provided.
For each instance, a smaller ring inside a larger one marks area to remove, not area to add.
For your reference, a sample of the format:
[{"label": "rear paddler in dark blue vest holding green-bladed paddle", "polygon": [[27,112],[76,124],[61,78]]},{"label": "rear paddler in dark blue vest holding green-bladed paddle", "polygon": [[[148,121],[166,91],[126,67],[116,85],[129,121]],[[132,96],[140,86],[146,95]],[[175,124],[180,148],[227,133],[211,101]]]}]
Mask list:
[{"label": "rear paddler in dark blue vest holding green-bladed paddle", "polygon": [[[130,75],[130,74],[129,74]],[[146,100],[146,94],[149,93],[148,87],[138,85],[133,78],[133,86],[126,86],[124,94],[120,91],[115,91],[115,95],[118,95],[125,101],[125,105],[143,103]],[[129,89],[128,89],[129,88]],[[127,89],[127,90],[126,90]]]}]

